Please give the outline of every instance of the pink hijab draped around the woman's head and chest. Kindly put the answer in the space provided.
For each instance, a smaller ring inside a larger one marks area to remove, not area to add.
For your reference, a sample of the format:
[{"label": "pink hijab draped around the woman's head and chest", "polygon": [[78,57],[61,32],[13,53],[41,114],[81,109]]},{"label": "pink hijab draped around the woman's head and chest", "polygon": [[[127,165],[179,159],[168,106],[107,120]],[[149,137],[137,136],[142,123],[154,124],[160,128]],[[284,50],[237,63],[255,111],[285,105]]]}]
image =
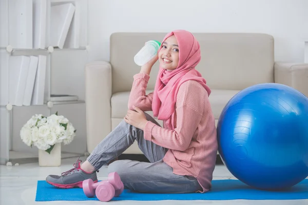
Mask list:
[{"label": "pink hijab draped around the woman's head and chest", "polygon": [[[168,121],[175,113],[177,94],[182,83],[187,80],[196,80],[208,95],[211,92],[201,73],[195,69],[201,60],[200,45],[195,36],[185,30],[175,30],[168,33],[163,42],[172,35],[175,35],[179,45],[179,65],[173,71],[160,67],[152,101],[153,115],[160,120],[169,119]],[[174,127],[172,121],[171,124]]]}]

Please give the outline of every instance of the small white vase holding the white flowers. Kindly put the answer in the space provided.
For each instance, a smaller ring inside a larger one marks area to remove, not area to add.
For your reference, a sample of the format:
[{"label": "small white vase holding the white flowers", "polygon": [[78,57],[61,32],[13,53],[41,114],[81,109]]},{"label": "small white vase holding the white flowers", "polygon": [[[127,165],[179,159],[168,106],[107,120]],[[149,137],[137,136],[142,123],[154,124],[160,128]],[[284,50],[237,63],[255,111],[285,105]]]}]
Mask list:
[{"label": "small white vase holding the white flowers", "polygon": [[39,149],[38,165],[41,167],[59,167],[61,165],[61,143],[55,144],[50,154]]}]

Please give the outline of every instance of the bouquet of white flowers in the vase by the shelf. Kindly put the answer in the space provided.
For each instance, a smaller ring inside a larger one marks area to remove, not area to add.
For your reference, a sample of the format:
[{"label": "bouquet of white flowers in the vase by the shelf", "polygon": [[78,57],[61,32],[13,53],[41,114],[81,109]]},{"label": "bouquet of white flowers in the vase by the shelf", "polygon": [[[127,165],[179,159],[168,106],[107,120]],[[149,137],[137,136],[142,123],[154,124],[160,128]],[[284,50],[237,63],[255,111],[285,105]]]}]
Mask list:
[{"label": "bouquet of white flowers in the vase by the shelf", "polygon": [[27,146],[34,145],[50,154],[55,144],[70,144],[75,132],[68,119],[56,112],[49,117],[42,114],[33,115],[21,129],[20,136]]}]

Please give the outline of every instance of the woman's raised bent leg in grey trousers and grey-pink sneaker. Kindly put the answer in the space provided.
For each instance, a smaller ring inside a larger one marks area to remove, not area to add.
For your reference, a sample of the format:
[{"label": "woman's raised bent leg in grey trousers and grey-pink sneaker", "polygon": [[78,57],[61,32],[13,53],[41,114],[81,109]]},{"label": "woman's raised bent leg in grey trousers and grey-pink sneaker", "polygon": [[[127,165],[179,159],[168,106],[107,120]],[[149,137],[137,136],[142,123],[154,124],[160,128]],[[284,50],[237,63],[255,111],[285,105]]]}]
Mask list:
[{"label": "woman's raised bent leg in grey trousers and grey-pink sneaker", "polygon": [[[147,120],[159,125],[150,115],[145,113]],[[46,181],[53,186],[60,188],[82,187],[82,181],[91,178],[97,181],[98,171],[105,163],[118,157],[134,140],[138,141],[140,150],[150,162],[162,159],[167,152],[166,148],[160,147],[143,137],[143,130],[127,124],[124,120],[113,130],[100,144],[94,148],[87,160],[80,165],[81,160],[77,160],[74,168],[62,173],[61,176],[49,175]]]}]

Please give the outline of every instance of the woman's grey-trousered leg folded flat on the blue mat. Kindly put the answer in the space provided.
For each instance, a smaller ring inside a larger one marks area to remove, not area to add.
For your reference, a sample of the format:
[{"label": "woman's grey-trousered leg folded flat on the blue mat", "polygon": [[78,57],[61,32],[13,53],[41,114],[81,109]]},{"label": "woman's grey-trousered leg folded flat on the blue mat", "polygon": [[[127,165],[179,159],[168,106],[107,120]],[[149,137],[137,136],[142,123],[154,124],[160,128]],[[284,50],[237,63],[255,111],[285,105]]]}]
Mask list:
[{"label": "woman's grey-trousered leg folded flat on the blue mat", "polygon": [[154,163],[118,160],[108,166],[108,173],[117,172],[125,189],[145,193],[195,193],[202,191],[195,177],[180,176],[163,160]]}]

